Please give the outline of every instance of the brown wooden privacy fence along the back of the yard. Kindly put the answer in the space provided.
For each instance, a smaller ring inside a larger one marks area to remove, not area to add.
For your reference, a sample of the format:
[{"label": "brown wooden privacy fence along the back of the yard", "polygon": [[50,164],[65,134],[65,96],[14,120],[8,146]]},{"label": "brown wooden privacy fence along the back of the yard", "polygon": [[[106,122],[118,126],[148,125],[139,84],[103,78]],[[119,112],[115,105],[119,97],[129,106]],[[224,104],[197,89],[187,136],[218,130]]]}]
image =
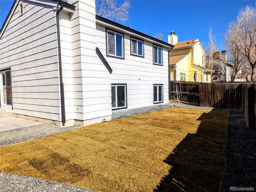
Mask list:
[{"label": "brown wooden privacy fence along the back of the yard", "polygon": [[240,109],[248,127],[256,127],[256,84],[244,82],[170,82],[171,101],[202,107]]}]

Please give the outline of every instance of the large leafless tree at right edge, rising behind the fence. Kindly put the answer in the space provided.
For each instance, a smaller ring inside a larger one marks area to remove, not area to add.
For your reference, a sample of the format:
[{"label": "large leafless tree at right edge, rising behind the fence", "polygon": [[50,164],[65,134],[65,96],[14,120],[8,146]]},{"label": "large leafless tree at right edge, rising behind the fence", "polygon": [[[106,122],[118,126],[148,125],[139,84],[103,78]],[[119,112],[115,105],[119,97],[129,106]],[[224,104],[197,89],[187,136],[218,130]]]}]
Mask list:
[{"label": "large leafless tree at right edge, rising behind the fence", "polygon": [[244,66],[247,70],[251,69],[251,80],[255,81],[256,4],[246,6],[238,12],[237,20],[230,23],[224,35],[224,41],[228,44],[228,50],[232,52],[235,64]]}]

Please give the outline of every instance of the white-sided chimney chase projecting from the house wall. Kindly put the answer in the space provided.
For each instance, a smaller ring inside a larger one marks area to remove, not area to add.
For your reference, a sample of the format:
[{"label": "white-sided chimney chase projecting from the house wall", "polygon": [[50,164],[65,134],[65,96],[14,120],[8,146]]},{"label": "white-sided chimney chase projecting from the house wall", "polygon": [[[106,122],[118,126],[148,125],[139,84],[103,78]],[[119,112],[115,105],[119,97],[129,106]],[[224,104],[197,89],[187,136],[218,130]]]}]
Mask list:
[{"label": "white-sided chimney chase projecting from the house wall", "polygon": [[75,6],[71,22],[75,119],[110,116],[111,80],[96,54],[95,4],[83,1]]}]

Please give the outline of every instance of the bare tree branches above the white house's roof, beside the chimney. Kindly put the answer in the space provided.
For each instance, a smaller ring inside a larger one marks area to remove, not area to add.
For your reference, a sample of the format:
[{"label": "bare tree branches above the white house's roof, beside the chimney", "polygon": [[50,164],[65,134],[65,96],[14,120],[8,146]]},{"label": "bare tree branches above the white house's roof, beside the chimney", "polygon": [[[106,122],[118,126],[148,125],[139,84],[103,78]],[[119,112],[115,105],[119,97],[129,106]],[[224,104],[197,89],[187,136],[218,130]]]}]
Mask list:
[{"label": "bare tree branches above the white house's roof, beside the chimney", "polygon": [[116,0],[96,0],[96,15],[112,20],[114,22],[125,23],[129,20],[128,10],[131,8],[129,0],[118,4]]}]

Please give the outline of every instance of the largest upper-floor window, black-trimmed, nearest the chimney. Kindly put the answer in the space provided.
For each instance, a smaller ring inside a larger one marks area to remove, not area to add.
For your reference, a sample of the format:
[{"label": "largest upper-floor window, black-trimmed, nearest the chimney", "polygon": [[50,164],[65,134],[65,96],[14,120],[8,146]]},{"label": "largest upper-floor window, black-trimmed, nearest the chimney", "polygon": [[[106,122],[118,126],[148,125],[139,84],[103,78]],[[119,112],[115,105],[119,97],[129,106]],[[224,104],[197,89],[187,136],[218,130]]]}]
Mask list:
[{"label": "largest upper-floor window, black-trimmed, nearest the chimney", "polygon": [[107,56],[124,58],[124,35],[107,30]]}]

